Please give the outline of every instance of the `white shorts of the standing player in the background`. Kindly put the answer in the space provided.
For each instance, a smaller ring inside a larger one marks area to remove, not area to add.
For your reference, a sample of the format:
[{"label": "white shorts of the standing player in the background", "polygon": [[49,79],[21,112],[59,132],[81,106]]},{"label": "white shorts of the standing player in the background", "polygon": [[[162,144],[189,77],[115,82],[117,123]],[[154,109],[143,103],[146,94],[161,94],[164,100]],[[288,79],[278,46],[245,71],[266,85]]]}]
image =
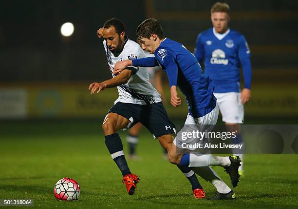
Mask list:
[{"label": "white shorts of the standing player in the background", "polygon": [[213,93],[217,98],[223,122],[229,124],[242,124],[244,120],[244,108],[241,103],[241,93]]}]

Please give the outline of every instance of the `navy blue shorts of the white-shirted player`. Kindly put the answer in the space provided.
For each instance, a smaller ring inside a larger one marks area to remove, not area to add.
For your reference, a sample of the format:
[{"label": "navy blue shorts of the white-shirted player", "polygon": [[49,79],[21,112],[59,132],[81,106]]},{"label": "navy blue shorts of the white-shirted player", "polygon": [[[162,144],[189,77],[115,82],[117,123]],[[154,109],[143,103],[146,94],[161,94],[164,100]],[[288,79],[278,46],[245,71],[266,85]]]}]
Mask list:
[{"label": "navy blue shorts of the white-shirted player", "polygon": [[130,120],[127,128],[131,128],[133,125],[141,122],[153,134],[154,138],[165,134],[176,135],[175,126],[168,119],[167,111],[161,102],[153,104],[118,102],[112,106],[108,113],[110,112]]}]

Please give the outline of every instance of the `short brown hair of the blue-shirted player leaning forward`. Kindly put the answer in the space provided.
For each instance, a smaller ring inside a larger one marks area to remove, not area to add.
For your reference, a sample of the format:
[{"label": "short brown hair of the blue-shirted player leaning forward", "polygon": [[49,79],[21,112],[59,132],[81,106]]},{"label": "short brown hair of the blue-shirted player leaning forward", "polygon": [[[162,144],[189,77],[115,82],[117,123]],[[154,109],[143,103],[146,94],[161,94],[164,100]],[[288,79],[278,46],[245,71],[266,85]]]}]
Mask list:
[{"label": "short brown hair of the blue-shirted player leaning forward", "polygon": [[159,39],[164,38],[164,32],[159,21],[153,18],[146,19],[138,27],[136,31],[137,39],[147,38],[150,39],[152,33],[156,34]]}]

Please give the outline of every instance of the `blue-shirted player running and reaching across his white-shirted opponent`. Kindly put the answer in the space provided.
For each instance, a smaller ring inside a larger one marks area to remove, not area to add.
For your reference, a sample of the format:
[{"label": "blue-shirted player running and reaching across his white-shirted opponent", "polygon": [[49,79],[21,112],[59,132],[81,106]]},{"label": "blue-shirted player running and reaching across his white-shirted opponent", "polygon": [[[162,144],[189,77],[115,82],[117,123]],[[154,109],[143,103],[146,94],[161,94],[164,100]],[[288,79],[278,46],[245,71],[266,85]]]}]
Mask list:
[{"label": "blue-shirted player running and reaching across his white-shirted opponent", "polygon": [[[218,118],[218,105],[213,95],[214,84],[204,75],[200,64],[194,55],[183,44],[164,37],[161,24],[155,19],[143,21],[137,28],[137,38],[144,50],[155,57],[125,60],[117,62],[114,74],[128,66],[153,67],[160,65],[167,73],[170,86],[170,103],[173,106],[181,104],[176,86],[179,86],[186,96],[189,113],[185,125],[214,125]],[[181,132],[181,131],[180,131]],[[179,135],[179,133],[177,134]],[[176,137],[177,138],[177,137]],[[192,144],[195,139],[186,139],[186,144]],[[188,166],[198,175],[217,188],[217,193],[211,199],[234,199],[234,191],[229,188],[210,166],[224,167],[229,174],[233,187],[239,182],[238,168],[241,159],[234,157],[219,157],[196,152],[178,153],[184,149],[181,140],[168,141],[169,161],[176,165]],[[192,149],[194,150],[194,149]]]}]

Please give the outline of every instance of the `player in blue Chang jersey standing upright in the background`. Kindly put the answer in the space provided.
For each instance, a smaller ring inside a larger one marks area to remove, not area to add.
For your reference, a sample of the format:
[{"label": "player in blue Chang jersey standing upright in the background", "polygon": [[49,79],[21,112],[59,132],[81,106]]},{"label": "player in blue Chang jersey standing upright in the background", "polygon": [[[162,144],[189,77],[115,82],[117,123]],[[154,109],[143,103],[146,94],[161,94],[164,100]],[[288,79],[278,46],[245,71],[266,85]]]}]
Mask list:
[{"label": "player in blue Chang jersey standing upright in the background", "polygon": [[[244,119],[243,104],[249,101],[251,95],[250,50],[244,36],[228,27],[229,20],[228,4],[215,3],[211,8],[213,28],[198,35],[194,55],[199,63],[204,59],[205,73],[215,84],[214,95],[227,129],[237,130],[232,143],[244,147],[239,124]],[[240,63],[244,78],[241,93]],[[239,173],[243,175],[243,148],[241,151],[233,148],[232,152],[242,159]]]}]

